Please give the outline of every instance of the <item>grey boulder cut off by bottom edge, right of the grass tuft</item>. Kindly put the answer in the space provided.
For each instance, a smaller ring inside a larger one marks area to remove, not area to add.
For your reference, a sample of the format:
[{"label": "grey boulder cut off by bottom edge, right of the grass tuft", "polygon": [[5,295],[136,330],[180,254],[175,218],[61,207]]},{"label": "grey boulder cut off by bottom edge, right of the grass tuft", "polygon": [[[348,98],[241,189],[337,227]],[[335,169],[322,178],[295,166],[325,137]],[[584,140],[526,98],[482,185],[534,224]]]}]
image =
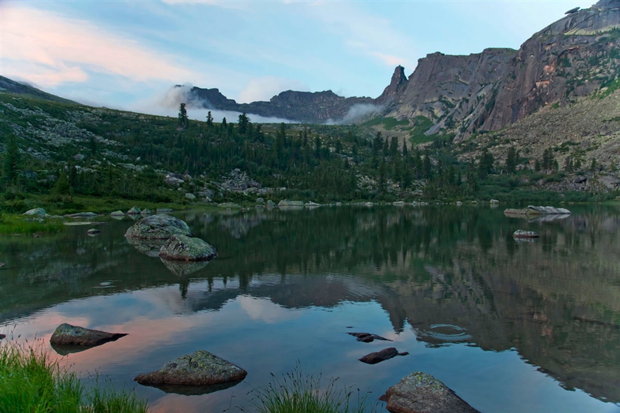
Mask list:
[{"label": "grey boulder cut off by bottom edge, right of the grass tuft", "polygon": [[479,413],[431,374],[409,374],[389,388],[380,400],[392,413]]}]

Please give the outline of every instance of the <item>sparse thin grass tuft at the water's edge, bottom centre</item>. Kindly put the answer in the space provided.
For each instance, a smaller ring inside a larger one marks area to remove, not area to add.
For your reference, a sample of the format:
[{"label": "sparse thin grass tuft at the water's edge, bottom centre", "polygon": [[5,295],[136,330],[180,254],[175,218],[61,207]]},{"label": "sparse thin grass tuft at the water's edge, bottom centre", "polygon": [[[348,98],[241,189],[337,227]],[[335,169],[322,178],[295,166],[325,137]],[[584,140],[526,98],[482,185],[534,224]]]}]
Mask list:
[{"label": "sparse thin grass tuft at the water's edge, bottom centre", "polygon": [[[256,413],[362,413],[375,412],[376,403],[368,405],[369,393],[360,389],[340,387],[337,379],[322,385],[322,376],[314,377],[301,371],[298,364],[293,372],[281,379],[271,374],[271,383],[252,390]],[[248,412],[243,407],[243,412]]]}]

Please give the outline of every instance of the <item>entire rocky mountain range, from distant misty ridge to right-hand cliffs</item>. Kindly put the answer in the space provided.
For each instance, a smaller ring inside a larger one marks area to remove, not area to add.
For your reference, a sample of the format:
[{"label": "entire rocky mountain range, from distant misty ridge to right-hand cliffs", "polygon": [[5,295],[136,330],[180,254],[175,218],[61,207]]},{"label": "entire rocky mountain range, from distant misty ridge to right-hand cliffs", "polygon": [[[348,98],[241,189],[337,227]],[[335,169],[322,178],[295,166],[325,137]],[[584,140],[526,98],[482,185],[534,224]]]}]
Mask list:
[{"label": "entire rocky mountain range, from distant misty ridge to right-hand cliffs", "polygon": [[[480,131],[502,129],[546,105],[566,107],[583,96],[619,87],[620,0],[601,0],[569,10],[528,39],[519,50],[490,48],[468,56],[436,52],[418,61],[411,76],[398,66],[378,98],[343,98],[331,91],[287,91],[269,102],[238,104],[218,89],[194,87],[198,105],[307,123],[355,120],[365,114],[425,120],[426,135],[454,134],[457,141]],[[375,109],[374,111],[371,109]]]}]

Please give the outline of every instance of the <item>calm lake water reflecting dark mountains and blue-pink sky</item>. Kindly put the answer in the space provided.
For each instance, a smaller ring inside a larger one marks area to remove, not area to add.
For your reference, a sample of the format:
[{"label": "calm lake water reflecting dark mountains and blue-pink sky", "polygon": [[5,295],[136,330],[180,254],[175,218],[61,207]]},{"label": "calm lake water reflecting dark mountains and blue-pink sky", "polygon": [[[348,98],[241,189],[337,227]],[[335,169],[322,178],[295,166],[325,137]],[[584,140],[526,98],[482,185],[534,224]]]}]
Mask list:
[{"label": "calm lake water reflecting dark mountains and blue-pink sky", "polygon": [[[129,244],[129,218],[96,237],[2,237],[0,331],[48,347],[63,322],[129,333],[56,357],[136,386],[157,412],[237,411],[296,362],[373,400],[424,371],[482,412],[620,412],[620,210],[571,209],[530,222],[486,206],[178,213],[220,254],[189,267]],[[516,229],[541,238],[515,242]],[[410,354],[358,361],[390,346]],[[200,396],[132,382],[200,349],[245,382]]]}]

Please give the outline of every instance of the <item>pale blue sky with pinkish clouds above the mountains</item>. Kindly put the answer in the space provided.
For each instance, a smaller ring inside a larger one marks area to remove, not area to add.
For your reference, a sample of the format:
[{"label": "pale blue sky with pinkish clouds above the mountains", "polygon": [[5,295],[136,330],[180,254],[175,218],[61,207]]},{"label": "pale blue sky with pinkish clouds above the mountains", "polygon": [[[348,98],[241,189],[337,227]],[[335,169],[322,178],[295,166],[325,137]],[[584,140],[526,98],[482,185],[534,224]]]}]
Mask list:
[{"label": "pale blue sky with pinkish clouds above the mountains", "polygon": [[594,0],[0,0],[0,74],[94,106],[164,114],[173,85],[240,103],[284,90],[377,97],[433,52],[518,49]]}]

